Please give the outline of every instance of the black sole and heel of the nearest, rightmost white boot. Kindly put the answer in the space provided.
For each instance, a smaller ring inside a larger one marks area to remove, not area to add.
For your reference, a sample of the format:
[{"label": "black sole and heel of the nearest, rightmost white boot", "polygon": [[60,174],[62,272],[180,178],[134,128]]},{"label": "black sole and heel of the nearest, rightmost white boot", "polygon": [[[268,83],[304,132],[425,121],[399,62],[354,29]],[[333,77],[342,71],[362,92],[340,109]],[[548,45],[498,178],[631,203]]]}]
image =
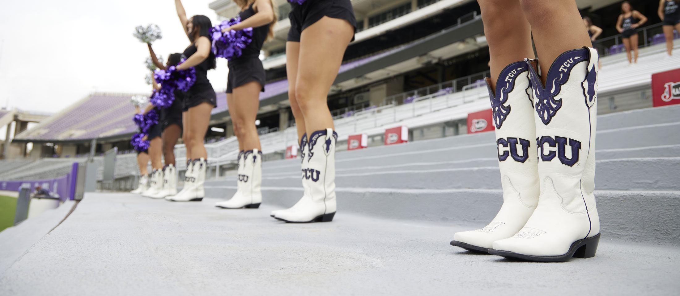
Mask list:
[{"label": "black sole and heel of the nearest, rightmost white boot", "polygon": [[596,234],[592,238],[583,238],[582,240],[575,241],[573,244],[571,244],[571,247],[569,248],[569,251],[566,254],[559,256],[523,255],[509,251],[498,251],[492,248],[489,249],[489,254],[503,256],[509,259],[521,259],[534,262],[564,262],[571,259],[572,257],[576,258],[595,257],[595,252],[597,251],[597,246],[599,243],[600,234]]}]

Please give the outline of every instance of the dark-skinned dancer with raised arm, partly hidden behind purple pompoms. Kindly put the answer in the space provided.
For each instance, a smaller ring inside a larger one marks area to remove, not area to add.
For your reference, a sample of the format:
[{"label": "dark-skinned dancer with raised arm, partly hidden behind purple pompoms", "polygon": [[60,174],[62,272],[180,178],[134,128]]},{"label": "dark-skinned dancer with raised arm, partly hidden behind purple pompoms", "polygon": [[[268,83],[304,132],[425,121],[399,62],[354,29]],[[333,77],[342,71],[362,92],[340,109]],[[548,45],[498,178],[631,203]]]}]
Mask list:
[{"label": "dark-skinned dancer with raised arm, partly hidden behind purple pompoms", "polygon": [[[158,69],[166,70],[168,67],[177,66],[182,60],[182,54],[170,54],[166,64],[161,64],[148,44],[149,54],[151,59],[156,64]],[[156,81],[154,81],[156,85]],[[180,90],[174,91],[175,100],[165,109],[160,109],[160,119],[158,125],[162,132],[160,138],[163,143],[163,158],[165,159],[165,166],[163,166],[163,188],[148,195],[149,198],[165,198],[167,196],[174,196],[177,194],[177,168],[175,165],[175,145],[182,134],[182,103],[184,100],[184,92]]]}]

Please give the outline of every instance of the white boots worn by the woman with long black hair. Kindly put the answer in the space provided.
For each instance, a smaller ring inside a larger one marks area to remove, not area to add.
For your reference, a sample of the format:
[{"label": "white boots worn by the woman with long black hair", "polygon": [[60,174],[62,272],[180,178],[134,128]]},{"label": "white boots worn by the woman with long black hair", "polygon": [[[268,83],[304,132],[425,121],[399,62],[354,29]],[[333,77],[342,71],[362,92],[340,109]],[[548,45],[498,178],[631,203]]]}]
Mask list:
[{"label": "white boots worn by the woman with long black hair", "polygon": [[[165,196],[165,200],[171,202],[200,202],[205,196],[205,173],[207,161],[205,158],[187,160],[186,173],[184,174],[184,187],[180,192]],[[177,186],[175,185],[175,191]]]}]

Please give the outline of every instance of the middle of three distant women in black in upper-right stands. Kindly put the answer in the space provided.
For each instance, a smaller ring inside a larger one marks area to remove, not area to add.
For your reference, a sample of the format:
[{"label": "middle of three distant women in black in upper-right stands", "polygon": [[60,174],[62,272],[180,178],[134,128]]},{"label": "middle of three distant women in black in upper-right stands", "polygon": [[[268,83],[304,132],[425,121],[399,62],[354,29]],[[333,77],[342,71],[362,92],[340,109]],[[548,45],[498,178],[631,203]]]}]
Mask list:
[{"label": "middle of three distant women in black in upper-right stands", "polygon": [[645,22],[647,22],[647,17],[643,16],[639,11],[633,10],[630,2],[624,1],[621,3],[621,14],[619,15],[619,20],[616,21],[616,29],[621,33],[621,38],[624,41],[629,64],[637,63],[637,29]]}]

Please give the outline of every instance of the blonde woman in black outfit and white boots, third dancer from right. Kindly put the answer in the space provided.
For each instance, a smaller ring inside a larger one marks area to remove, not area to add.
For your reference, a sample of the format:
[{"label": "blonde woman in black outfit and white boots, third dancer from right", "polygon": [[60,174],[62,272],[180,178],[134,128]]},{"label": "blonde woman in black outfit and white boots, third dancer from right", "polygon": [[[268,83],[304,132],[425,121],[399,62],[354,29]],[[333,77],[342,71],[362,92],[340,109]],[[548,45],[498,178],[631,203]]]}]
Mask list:
[{"label": "blonde woman in black outfit and white boots, third dancer from right", "polygon": [[241,22],[222,31],[253,28],[252,42],[241,56],[229,61],[226,81],[226,104],[239,141],[237,191],[231,200],[218,202],[220,208],[258,208],[262,202],[262,147],[255,128],[260,107],[260,91],[265,91],[265,67],[260,50],[267,38],[274,36],[276,14],[271,0],[234,0],[241,7]]}]

